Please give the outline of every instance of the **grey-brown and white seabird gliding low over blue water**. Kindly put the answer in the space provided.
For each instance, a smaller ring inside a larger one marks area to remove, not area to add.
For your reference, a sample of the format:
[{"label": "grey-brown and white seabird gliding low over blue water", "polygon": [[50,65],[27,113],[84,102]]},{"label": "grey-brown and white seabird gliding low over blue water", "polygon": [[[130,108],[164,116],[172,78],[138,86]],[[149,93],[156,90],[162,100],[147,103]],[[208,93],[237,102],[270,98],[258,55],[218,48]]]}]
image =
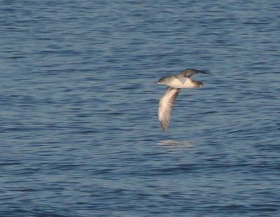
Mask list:
[{"label": "grey-brown and white seabird gliding low over blue water", "polygon": [[163,94],[163,96],[160,98],[158,106],[158,120],[160,120],[162,131],[167,130],[169,120],[172,115],[174,102],[181,88],[202,87],[203,83],[201,81],[190,79],[190,76],[193,76],[195,73],[208,72],[197,69],[184,69],[174,76],[165,76],[158,80],[157,84],[167,85],[167,90],[165,91],[165,94]]}]

